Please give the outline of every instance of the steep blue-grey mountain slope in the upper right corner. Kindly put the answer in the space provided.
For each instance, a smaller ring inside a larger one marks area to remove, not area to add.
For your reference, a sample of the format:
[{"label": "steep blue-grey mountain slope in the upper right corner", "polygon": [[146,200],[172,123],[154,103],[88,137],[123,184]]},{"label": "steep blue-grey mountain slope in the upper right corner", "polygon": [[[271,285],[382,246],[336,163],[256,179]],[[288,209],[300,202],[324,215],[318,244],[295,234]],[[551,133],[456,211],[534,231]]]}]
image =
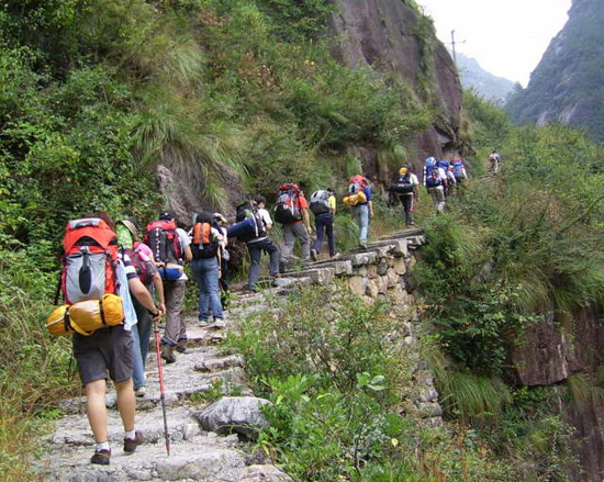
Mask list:
[{"label": "steep blue-grey mountain slope in the upper right corner", "polygon": [[528,87],[517,89],[505,107],[514,122],[584,126],[604,141],[603,22],[604,1],[573,0]]}]

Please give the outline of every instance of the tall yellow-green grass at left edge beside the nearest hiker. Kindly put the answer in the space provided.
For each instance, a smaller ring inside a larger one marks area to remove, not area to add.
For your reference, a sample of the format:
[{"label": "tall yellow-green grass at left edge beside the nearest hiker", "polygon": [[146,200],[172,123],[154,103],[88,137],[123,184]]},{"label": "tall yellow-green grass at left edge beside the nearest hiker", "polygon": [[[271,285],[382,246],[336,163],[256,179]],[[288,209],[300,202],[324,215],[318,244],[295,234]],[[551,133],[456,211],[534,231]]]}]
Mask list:
[{"label": "tall yellow-green grass at left edge beside the nearest hiker", "polygon": [[69,343],[45,328],[49,278],[22,254],[0,260],[0,473],[3,480],[34,480],[31,457],[56,402],[76,393],[69,377]]}]

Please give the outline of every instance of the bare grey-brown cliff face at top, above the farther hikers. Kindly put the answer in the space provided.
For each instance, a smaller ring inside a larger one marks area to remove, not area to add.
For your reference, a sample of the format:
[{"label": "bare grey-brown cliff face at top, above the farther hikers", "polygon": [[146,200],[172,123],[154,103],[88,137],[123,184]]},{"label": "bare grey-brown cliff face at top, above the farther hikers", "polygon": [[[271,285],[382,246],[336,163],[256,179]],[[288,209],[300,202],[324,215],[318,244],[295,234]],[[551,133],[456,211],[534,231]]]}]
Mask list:
[{"label": "bare grey-brown cliff face at top, above the farther hikers", "polygon": [[[460,126],[462,90],[457,69],[445,46],[436,40],[432,26],[401,0],[333,0],[338,11],[332,31],[339,40],[335,55],[351,68],[369,66],[376,71],[394,71],[414,92],[423,92],[424,102],[438,112],[433,127],[418,135],[410,149],[412,159],[429,155],[441,157],[461,147]],[[422,96],[422,93],[420,93]],[[370,153],[363,167],[370,167]],[[378,178],[381,175],[374,167]]]}]

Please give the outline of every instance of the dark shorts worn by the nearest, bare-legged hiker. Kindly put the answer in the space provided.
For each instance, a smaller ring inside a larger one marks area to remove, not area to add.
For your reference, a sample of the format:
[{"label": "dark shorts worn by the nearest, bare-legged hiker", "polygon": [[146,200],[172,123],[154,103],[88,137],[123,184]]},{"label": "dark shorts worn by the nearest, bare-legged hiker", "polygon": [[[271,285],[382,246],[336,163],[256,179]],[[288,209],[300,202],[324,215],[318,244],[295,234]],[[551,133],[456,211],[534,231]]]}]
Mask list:
[{"label": "dark shorts worn by the nearest, bare-legged hiker", "polygon": [[134,369],[134,339],[124,325],[94,332],[91,336],[74,334],[74,356],[82,384],[109,377],[116,383],[132,378]]}]

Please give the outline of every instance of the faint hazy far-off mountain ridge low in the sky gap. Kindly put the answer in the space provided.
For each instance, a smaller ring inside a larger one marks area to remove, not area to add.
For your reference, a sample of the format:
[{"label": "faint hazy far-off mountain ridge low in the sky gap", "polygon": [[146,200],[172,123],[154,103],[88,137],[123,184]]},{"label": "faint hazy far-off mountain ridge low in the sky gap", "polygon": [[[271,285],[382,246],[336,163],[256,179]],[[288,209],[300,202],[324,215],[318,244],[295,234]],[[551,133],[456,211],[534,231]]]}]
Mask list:
[{"label": "faint hazy far-off mountain ridge low in the sky gap", "polygon": [[465,89],[473,89],[480,97],[503,105],[514,90],[514,82],[484,70],[480,64],[463,54],[456,54],[457,69]]}]

